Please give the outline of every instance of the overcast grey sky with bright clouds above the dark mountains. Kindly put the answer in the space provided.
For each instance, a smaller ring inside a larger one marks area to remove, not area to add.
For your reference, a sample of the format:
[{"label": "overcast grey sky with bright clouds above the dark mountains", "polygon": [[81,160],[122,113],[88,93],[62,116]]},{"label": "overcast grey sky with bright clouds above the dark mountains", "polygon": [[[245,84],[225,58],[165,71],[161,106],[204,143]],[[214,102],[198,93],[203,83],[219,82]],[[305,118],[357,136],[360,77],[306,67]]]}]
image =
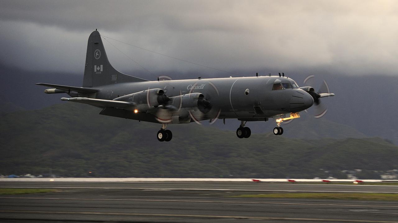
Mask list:
[{"label": "overcast grey sky with bright clouds above the dark mountains", "polygon": [[[396,75],[398,1],[4,1],[0,63],[82,73],[101,35],[210,67]],[[203,67],[103,40],[120,71]],[[136,61],[134,63],[119,50]]]}]

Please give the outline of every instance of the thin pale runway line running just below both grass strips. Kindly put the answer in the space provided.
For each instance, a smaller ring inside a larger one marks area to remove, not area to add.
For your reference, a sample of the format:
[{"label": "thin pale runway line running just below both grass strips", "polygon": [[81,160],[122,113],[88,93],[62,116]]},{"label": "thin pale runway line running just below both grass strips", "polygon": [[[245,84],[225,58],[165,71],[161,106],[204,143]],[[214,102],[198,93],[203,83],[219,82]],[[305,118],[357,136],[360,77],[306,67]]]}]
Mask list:
[{"label": "thin pale runway line running just below both grass strips", "polygon": [[197,202],[197,203],[237,203],[237,204],[285,204],[285,205],[319,205],[319,206],[355,206],[355,207],[379,207],[398,208],[392,205],[363,205],[363,204],[305,204],[282,202],[246,202],[246,201],[207,201],[207,200],[150,200],[150,199],[107,199],[107,198],[12,198],[0,197],[0,199],[42,199],[42,200],[114,200],[114,201],[154,201],[154,202]]}]

